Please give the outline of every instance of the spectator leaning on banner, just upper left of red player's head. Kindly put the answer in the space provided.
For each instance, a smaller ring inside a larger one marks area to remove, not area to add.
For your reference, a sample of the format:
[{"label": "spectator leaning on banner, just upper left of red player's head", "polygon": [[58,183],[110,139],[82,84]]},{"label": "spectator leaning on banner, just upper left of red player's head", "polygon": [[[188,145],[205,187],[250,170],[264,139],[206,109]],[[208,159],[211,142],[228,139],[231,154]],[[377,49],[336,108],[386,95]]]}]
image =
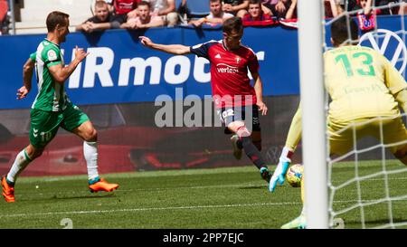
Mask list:
[{"label": "spectator leaning on banner, just upper left of red player's head", "polygon": [[222,0],[210,0],[209,8],[211,14],[206,15],[204,18],[193,20],[189,22],[189,24],[192,24],[195,27],[200,27],[203,24],[217,25],[223,24],[223,21],[233,17],[233,14],[222,11]]}]

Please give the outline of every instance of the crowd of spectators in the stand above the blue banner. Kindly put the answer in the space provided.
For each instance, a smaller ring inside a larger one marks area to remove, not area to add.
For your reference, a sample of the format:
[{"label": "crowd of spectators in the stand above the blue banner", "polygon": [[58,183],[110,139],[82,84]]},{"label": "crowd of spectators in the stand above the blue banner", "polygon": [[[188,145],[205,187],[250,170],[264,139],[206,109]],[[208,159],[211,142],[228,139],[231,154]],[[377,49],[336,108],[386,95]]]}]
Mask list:
[{"label": "crowd of spectators in the stand above the blue banner", "polygon": [[[9,33],[10,2],[0,0],[0,34]],[[91,33],[114,28],[142,29],[175,25],[217,26],[239,16],[244,26],[274,25],[297,28],[298,0],[207,0],[207,13],[196,14],[191,0],[93,0],[89,19],[76,26]],[[343,12],[355,16],[362,32],[375,28],[375,16],[406,14],[406,0],[324,0],[326,18]],[[203,1],[204,2],[204,1]],[[178,5],[177,5],[178,4]],[[199,5],[202,5],[200,3]]]}]

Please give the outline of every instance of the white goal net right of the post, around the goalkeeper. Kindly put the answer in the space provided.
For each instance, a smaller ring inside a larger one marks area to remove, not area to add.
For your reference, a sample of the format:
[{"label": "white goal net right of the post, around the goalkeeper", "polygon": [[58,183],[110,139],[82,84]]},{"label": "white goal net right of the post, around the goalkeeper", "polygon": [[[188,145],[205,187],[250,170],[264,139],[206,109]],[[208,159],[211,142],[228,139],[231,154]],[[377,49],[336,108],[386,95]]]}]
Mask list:
[{"label": "white goal net right of the post, around the goalkeeper", "polygon": [[[322,2],[329,1],[322,0]],[[360,4],[360,1],[354,2]],[[401,10],[404,8],[403,1],[390,1],[392,3],[387,5],[380,5],[381,1],[378,0],[372,2],[370,13],[373,18],[371,19],[369,16],[367,18],[359,16],[364,9],[346,8],[349,3],[347,0],[338,1],[344,10],[339,11],[339,15],[334,18],[323,16],[324,34],[326,34],[323,44],[324,51],[332,48],[330,25],[344,15],[354,18],[361,30],[360,45],[369,46],[381,52],[405,79],[407,49],[405,45],[406,19]],[[321,7],[322,14],[327,13],[327,5],[324,3]],[[371,25],[369,22],[374,23]],[[366,27],[371,30],[363,30]],[[349,40],[351,40],[350,36]],[[329,100],[329,96],[326,94],[326,116]],[[365,103],[374,104],[374,102]],[[405,116],[405,113],[402,113],[404,126]],[[345,131],[352,133],[350,137],[353,147],[345,155],[329,157],[329,147],[326,148],[328,227],[407,228],[407,166],[404,166],[390,151],[392,147],[407,145],[407,140],[385,143],[383,141],[385,135],[383,122],[386,121],[387,119],[384,117],[366,119],[337,132],[338,134],[345,133]],[[360,138],[364,134],[362,126],[372,123],[377,123],[378,127],[370,131],[376,131],[378,138],[369,136]],[[307,129],[304,128],[303,132],[306,131]],[[327,133],[326,138],[328,135]],[[326,143],[328,146],[329,141]],[[305,166],[307,167],[307,164]],[[307,190],[306,192],[308,193]]]}]

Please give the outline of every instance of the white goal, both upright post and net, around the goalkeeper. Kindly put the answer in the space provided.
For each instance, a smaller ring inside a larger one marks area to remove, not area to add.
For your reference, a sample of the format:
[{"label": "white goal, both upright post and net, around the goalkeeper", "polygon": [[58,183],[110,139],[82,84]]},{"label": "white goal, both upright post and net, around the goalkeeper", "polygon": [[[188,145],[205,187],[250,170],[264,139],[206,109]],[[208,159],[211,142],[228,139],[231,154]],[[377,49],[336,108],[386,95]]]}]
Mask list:
[{"label": "white goal, both upright post and net, around the goalkeeper", "polygon": [[[343,228],[345,221],[346,227],[349,228],[406,227],[407,192],[402,188],[405,188],[403,184],[407,179],[407,167],[403,166],[402,163],[405,162],[402,159],[396,158],[394,152],[396,148],[407,144],[407,139],[402,135],[392,143],[386,140],[392,137],[393,132],[383,131],[385,116],[369,118],[359,124],[362,126],[372,122],[380,123],[377,129],[369,128],[372,133],[369,132],[368,135],[359,132],[357,121],[348,125],[346,128],[353,131],[353,148],[339,157],[329,157],[328,95],[324,85],[323,52],[330,48],[326,43],[326,28],[336,21],[336,18],[326,21],[323,2],[324,0],[298,0],[298,58],[305,174],[304,213],[307,228],[325,229],[335,227],[336,223],[339,223],[338,228]],[[374,30],[365,33],[360,44],[381,52],[402,73],[405,81],[407,5],[404,3],[405,0],[391,6],[374,6],[373,11],[392,6],[402,8],[391,18],[374,17]],[[357,14],[361,13],[360,10],[344,11],[337,18],[355,18],[355,14],[359,16]],[[391,24],[385,22],[389,20],[392,21]],[[360,16],[357,21],[359,24],[366,24],[361,23]],[[380,29],[378,24],[381,25]],[[400,104],[400,100],[396,101]],[[406,116],[404,112],[401,117],[397,113],[397,116],[392,118],[397,121],[403,119],[405,125]],[[372,126],[374,125],[369,125]],[[339,166],[333,173],[335,164]]]}]

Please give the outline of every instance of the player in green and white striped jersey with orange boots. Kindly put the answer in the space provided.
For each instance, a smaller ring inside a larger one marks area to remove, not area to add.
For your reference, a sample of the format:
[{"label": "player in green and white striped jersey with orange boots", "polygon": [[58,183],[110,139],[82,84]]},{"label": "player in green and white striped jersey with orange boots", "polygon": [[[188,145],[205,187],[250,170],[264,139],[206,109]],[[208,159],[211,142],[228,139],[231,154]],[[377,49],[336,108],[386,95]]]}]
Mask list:
[{"label": "player in green and white striped jersey with orange boots", "polygon": [[[60,44],[69,32],[69,15],[54,11],[48,14],[47,38],[37,48],[35,64],[38,94],[31,109],[30,144],[15,158],[7,176],[2,177],[3,196],[6,202],[14,202],[14,183],[17,176],[43,150],[62,127],[84,140],[83,152],[88,166],[90,191],[113,191],[117,184],[109,184],[99,178],[97,131],[88,116],[69,100],[64,82],[82,62],[87,52],[76,47],[75,59],[67,66],[63,62]],[[24,86],[17,91],[17,99],[23,99],[31,90],[33,57],[24,64]]]}]

